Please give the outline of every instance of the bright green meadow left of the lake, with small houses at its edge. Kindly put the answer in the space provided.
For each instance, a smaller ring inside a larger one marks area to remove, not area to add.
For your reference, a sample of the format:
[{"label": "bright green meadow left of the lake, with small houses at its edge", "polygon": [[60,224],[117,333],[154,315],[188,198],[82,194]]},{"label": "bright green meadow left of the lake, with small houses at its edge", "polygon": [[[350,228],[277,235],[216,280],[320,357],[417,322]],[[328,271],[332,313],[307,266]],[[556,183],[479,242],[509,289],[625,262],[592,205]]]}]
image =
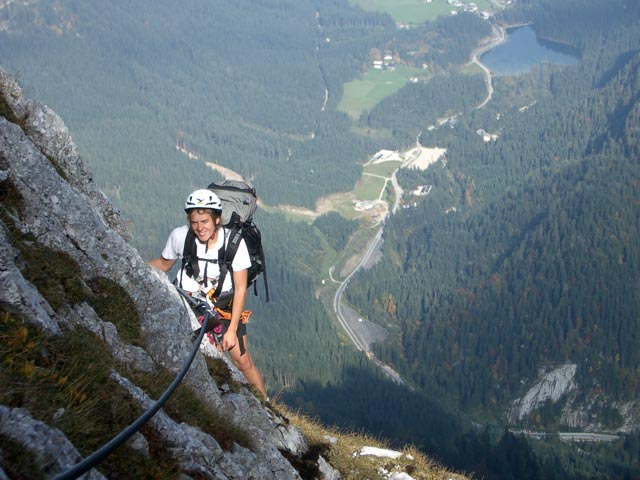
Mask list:
[{"label": "bright green meadow left of the lake, with small houses at its edge", "polygon": [[344,84],[344,93],[338,110],[351,118],[371,110],[380,100],[404,87],[411,77],[425,72],[418,68],[397,67],[395,70],[371,68],[361,78]]}]

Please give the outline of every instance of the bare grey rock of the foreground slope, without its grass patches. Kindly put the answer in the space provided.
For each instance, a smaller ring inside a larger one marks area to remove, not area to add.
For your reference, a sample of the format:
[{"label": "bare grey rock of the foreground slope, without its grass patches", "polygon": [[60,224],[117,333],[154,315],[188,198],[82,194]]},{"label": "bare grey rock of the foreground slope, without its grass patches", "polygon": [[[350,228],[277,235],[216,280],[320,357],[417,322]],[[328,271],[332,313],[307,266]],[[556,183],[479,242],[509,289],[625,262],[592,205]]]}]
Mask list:
[{"label": "bare grey rock of the foreground slope, without its grass patches", "polygon": [[[68,328],[85,328],[99,335],[114,358],[139,371],[163,367],[178,372],[192,349],[193,314],[184,308],[166,276],[146,265],[128,243],[129,234],[117,209],[94,184],[62,120],[48,107],[26,101],[19,85],[0,71],[0,186],[20,197],[20,211],[2,205],[0,217],[0,310],[25,319],[52,337]],[[81,282],[100,276],[117,283],[133,300],[145,341],[127,344],[117,328],[86,303],[54,308],[25,278],[21,254],[11,232],[37,239],[64,252],[79,267]],[[236,379],[235,367],[221,356]],[[113,372],[114,380],[140,405],[153,403],[131,379]],[[176,459],[180,478],[296,479],[298,472],[285,458],[305,453],[302,434],[265,408],[244,387],[222,390],[210,376],[202,355],[196,355],[183,383],[212,409],[241,425],[252,437],[252,450],[236,446],[223,450],[210,435],[158,412],[148,426]],[[58,475],[81,460],[74,445],[51,425],[30,412],[0,405],[0,434],[22,445],[36,459],[45,478]],[[144,448],[143,435],[134,437]],[[105,443],[109,440],[104,439]],[[2,453],[0,451],[0,453]],[[2,455],[0,455],[2,458]],[[99,466],[97,467],[99,470]],[[0,469],[0,478],[10,478]],[[84,478],[104,478],[92,470]]]}]

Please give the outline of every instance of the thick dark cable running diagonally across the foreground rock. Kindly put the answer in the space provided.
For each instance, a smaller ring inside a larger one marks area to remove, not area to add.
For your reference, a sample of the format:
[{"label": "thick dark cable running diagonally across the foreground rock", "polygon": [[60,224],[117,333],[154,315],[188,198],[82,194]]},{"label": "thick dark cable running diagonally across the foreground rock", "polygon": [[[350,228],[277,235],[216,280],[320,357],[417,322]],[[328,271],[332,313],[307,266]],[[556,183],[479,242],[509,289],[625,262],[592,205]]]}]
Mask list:
[{"label": "thick dark cable running diagonally across the foreground rock", "polygon": [[187,374],[187,371],[191,367],[191,364],[193,363],[193,359],[195,358],[196,353],[198,353],[198,349],[200,348],[200,343],[202,342],[202,338],[204,337],[205,332],[208,330],[208,326],[209,326],[208,324],[210,319],[211,319],[210,315],[208,314],[205,315],[202,328],[200,329],[200,332],[198,335],[198,339],[195,341],[193,345],[193,349],[189,354],[189,357],[185,361],[180,372],[178,372],[178,375],[176,375],[176,378],[173,380],[173,382],[171,382],[171,385],[169,385],[169,387],[164,391],[162,396],[158,400],[156,400],[156,402],[151,406],[151,408],[149,408],[149,410],[147,410],[142,415],[140,415],[135,422],[133,422],[127,428],[122,430],[118,435],[113,437],[108,443],[103,445],[100,449],[93,452],[91,455],[86,457],[80,463],[71,467],[66,472],[63,472],[60,475],[55,476],[53,480],[72,480],[72,479],[78,478],[83,473],[86,473],[87,471],[95,467],[98,463],[100,463],[102,460],[104,460],[107,457],[107,455],[109,455],[112,451],[114,451],[116,448],[121,446],[125,441],[127,441],[129,437],[131,437],[134,433],[136,433],[147,421],[149,421],[151,417],[153,417],[158,412],[158,410],[162,408],[162,406],[169,399],[173,391],[178,387],[182,379]]}]

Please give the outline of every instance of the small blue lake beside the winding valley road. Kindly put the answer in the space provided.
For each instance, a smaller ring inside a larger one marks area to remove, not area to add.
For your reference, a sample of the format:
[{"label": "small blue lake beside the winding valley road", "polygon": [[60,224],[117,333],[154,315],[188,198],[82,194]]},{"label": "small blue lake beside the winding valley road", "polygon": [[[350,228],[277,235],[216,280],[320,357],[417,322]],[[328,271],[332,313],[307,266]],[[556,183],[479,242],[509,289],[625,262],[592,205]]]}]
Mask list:
[{"label": "small blue lake beside the winding valley road", "polygon": [[494,75],[520,75],[544,62],[554,65],[575,65],[578,52],[566,45],[540,40],[531,27],[507,30],[507,40],[483,54],[480,61]]}]

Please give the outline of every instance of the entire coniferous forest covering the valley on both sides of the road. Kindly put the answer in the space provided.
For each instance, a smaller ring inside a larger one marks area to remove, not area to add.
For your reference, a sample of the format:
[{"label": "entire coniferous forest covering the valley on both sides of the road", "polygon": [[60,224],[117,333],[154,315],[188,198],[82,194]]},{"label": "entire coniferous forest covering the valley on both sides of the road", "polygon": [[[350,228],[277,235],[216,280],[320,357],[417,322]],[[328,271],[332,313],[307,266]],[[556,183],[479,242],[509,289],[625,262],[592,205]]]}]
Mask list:
[{"label": "entire coniferous forest covering the valley on both sides of the road", "polygon": [[[486,85],[466,64],[491,32],[477,15],[399,29],[346,0],[41,0],[0,10],[0,65],[62,116],[145,258],[184,221],[186,194],[221,178],[207,162],[254,183],[272,301],[250,299],[250,341],[272,395],[478,478],[639,478],[620,407],[640,398],[640,5],[518,0],[492,22],[531,24],[580,62],[494,76],[476,109]],[[434,75],[354,120],[337,105],[372,49]],[[372,154],[416,138],[446,155],[398,171],[406,208],[347,289],[389,331],[373,350],[399,385],[320,293],[357,222],[275,207],[351,190]],[[430,193],[412,198],[419,185]],[[568,363],[571,397],[510,418],[540,371]],[[517,433],[576,428],[567,409],[620,440]]]}]

